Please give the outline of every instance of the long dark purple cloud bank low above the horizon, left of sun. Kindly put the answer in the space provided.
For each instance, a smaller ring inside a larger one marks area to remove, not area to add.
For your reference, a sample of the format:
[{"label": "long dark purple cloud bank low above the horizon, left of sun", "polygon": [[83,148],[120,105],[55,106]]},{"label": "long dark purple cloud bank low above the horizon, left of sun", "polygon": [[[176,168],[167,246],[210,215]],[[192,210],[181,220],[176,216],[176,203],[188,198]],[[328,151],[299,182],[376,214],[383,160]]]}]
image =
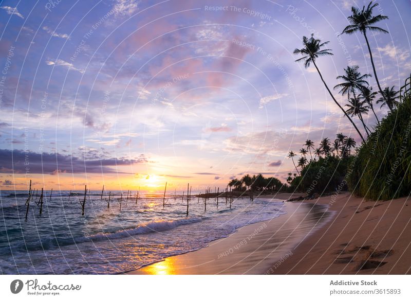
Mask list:
[{"label": "long dark purple cloud bank low above the horizon, left of sun", "polygon": [[[0,149],[0,173],[122,173],[116,166],[148,162],[144,155],[137,158],[108,157],[94,160],[59,153],[35,153]],[[28,168],[28,169],[26,169]]]}]

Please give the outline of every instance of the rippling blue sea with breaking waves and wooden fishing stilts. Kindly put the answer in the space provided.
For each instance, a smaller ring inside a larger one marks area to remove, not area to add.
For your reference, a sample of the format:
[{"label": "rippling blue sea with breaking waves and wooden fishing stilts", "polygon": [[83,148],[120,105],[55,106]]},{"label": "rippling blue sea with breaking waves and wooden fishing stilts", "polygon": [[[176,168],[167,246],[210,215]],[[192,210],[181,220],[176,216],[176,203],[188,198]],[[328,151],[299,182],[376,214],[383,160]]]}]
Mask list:
[{"label": "rippling blue sea with breaking waves and wooden fishing stilts", "polygon": [[[177,254],[195,251],[237,228],[286,214],[280,200],[211,198],[204,210],[193,197],[186,216],[186,196],[163,193],[91,191],[82,215],[83,191],[46,191],[43,213],[27,191],[0,194],[0,273],[2,274],[116,274],[135,270]],[[114,199],[113,199],[114,193]],[[122,203],[120,210],[120,199]],[[192,192],[196,195],[198,192]]]}]

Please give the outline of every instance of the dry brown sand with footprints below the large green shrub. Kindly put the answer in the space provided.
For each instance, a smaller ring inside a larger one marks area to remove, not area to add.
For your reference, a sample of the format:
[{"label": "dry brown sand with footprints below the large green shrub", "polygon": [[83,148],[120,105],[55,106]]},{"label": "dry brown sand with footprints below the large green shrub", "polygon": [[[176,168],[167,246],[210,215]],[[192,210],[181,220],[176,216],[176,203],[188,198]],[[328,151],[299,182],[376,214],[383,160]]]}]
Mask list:
[{"label": "dry brown sand with footprints below the large green shrub", "polygon": [[305,202],[328,204],[335,215],[270,273],[411,274],[409,197],[375,202],[344,193]]}]

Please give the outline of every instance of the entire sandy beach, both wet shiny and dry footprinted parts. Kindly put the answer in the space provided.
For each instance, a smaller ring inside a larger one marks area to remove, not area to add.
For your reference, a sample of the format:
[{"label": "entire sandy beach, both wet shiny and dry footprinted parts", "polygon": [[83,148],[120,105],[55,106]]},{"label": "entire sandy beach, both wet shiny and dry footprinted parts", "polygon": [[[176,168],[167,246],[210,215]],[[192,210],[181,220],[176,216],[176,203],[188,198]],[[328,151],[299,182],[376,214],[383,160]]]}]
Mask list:
[{"label": "entire sandy beach, both wet shiny and dry footprinted parts", "polygon": [[408,202],[364,201],[349,193],[284,202],[285,215],[127,274],[409,274]]}]

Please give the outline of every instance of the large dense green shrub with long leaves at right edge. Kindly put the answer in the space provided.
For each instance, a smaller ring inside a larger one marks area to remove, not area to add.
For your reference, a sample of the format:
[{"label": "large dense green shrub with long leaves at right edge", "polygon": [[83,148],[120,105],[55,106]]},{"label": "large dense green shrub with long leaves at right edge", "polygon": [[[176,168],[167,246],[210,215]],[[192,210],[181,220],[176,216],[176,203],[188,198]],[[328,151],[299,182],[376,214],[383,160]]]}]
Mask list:
[{"label": "large dense green shrub with long leaves at right edge", "polygon": [[408,196],[411,188],[411,96],[376,126],[357,150],[348,184],[354,195],[371,200]]}]

